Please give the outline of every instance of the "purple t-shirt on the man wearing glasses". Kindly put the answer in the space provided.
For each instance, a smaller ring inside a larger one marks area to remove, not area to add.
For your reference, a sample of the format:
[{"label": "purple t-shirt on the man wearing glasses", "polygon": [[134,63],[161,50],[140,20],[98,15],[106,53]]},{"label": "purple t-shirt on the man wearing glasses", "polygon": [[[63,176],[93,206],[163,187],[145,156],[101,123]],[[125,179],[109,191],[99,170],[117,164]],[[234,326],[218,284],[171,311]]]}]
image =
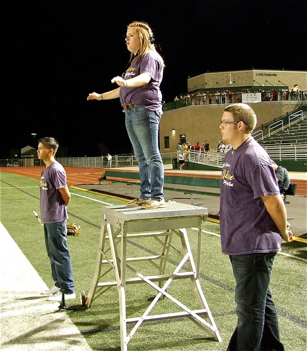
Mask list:
[{"label": "purple t-shirt on the man wearing glasses", "polygon": [[261,196],[279,188],[267,152],[251,137],[227,152],[220,181],[220,238],[228,255],[281,251],[281,234]]}]

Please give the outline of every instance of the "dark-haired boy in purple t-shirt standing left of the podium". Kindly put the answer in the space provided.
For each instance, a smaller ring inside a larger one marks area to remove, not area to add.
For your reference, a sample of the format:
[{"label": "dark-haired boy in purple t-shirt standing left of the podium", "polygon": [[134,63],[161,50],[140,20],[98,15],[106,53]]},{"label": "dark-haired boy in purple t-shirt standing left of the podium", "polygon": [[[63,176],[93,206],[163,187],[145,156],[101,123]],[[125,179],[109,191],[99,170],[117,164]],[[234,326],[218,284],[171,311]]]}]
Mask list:
[{"label": "dark-haired boy in purple t-shirt standing left of the podium", "polygon": [[61,301],[64,291],[65,300],[76,298],[75,284],[72,278],[70,252],[67,248],[68,219],[66,207],[70,201],[70,192],[66,184],[63,166],[55,160],[58,142],[52,137],[38,140],[37,155],[46,167],[40,177],[40,216],[44,224],[45,245],[51,264],[51,276],[55,285],[42,294],[49,296],[49,301]]}]

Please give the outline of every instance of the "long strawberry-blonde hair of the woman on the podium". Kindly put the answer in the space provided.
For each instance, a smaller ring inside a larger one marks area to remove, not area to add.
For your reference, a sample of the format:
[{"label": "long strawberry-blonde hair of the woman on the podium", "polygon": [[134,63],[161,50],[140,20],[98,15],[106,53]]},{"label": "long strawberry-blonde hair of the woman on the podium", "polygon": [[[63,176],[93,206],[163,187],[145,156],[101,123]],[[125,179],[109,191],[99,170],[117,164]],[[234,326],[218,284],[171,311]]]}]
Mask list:
[{"label": "long strawberry-blonde hair of the woman on the podium", "polygon": [[[153,32],[151,30],[151,27],[149,27],[149,25],[146,22],[134,21],[130,23],[127,26],[127,28],[134,28],[140,39],[141,48],[139,50],[139,57],[137,58],[137,61],[136,61],[137,63],[139,63],[140,60],[144,56],[146,56],[149,50],[152,50],[158,53],[154,45]],[[165,67],[164,61],[160,54],[159,56],[160,56],[162,66]],[[134,54],[131,53],[130,61],[132,61],[133,57],[134,57]]]}]

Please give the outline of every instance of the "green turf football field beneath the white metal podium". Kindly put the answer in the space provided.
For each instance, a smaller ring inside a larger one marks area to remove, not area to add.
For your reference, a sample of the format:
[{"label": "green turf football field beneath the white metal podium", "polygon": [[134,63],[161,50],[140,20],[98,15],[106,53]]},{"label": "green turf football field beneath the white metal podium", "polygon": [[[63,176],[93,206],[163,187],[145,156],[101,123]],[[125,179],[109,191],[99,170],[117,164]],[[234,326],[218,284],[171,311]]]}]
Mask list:
[{"label": "green turf football field beneath the white metal podium", "polygon": [[[46,256],[43,229],[33,216],[39,213],[39,181],[17,174],[1,172],[0,219],[25,256],[48,286],[53,281]],[[124,204],[122,200],[98,194],[70,189],[68,207],[69,221],[81,225],[81,234],[68,239],[72,257],[76,292],[88,293],[95,270],[101,227],[101,206]],[[88,198],[85,198],[88,197]],[[205,206],[205,204],[204,204]],[[188,319],[165,320],[143,324],[128,344],[128,350],[225,350],[236,326],[234,287],[229,258],[221,253],[218,224],[203,223],[202,260],[200,283],[215,319],[222,343],[212,341],[200,328]],[[197,232],[188,229],[192,250],[196,252]],[[173,241],[175,246],[179,242]],[[148,247],[160,253],[157,243],[145,240],[129,245],[129,253],[146,255]],[[281,339],[286,350],[306,350],[306,244],[283,243],[283,252],[274,261],[271,291],[279,313]],[[169,271],[181,257],[170,251]],[[152,266],[142,267],[142,272],[151,272]],[[114,277],[111,279],[114,280]],[[190,284],[187,280],[174,281],[168,292],[173,293],[188,307],[197,309]],[[175,293],[174,293],[175,292]],[[129,285],[126,289],[127,317],[137,317],[148,307],[155,291],[147,284]],[[68,305],[77,305],[72,300]],[[156,313],[177,311],[167,298],[161,300],[152,311]],[[117,289],[111,288],[98,297],[87,310],[66,311],[93,350],[120,350],[119,302]]]}]

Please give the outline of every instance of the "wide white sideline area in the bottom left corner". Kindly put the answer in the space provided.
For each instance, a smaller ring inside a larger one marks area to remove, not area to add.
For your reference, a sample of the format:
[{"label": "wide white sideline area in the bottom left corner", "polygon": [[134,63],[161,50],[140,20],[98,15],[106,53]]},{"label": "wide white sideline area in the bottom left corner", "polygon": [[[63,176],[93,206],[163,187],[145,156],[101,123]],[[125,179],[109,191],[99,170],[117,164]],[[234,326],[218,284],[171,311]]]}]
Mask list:
[{"label": "wide white sideline area in the bottom left corner", "polygon": [[0,222],[1,350],[91,351],[59,302],[47,301],[47,285]]}]

